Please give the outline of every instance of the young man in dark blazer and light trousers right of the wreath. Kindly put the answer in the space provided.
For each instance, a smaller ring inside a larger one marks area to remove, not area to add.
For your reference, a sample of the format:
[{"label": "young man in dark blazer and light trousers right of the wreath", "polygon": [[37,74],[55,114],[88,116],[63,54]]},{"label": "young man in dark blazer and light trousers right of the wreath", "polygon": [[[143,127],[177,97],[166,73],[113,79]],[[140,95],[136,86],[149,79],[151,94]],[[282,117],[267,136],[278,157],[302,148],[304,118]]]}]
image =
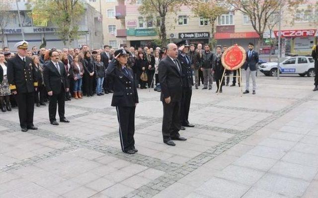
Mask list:
[{"label": "young man in dark blazer and light trousers right of the wreath", "polygon": [[252,77],[253,81],[253,94],[256,94],[256,70],[258,63],[258,53],[254,51],[254,44],[248,44],[248,51],[246,52],[246,61],[244,69],[246,71],[246,88],[243,94],[249,93],[249,76]]}]

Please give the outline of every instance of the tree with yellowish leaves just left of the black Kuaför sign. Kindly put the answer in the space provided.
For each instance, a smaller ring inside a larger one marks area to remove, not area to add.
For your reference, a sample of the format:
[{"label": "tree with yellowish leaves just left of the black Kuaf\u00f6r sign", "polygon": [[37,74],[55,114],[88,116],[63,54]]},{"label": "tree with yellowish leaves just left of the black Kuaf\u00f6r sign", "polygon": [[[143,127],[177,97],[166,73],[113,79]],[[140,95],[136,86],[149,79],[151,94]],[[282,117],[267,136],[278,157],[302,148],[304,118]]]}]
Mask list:
[{"label": "tree with yellowish leaves just left of the black Kuaf\u00f6r sign", "polygon": [[[131,3],[136,3],[137,0],[131,0]],[[159,39],[162,40],[162,46],[167,44],[166,34],[166,15],[167,13],[176,13],[180,10],[181,5],[187,3],[187,0],[141,0],[141,5],[138,11],[153,19],[159,19]]]}]

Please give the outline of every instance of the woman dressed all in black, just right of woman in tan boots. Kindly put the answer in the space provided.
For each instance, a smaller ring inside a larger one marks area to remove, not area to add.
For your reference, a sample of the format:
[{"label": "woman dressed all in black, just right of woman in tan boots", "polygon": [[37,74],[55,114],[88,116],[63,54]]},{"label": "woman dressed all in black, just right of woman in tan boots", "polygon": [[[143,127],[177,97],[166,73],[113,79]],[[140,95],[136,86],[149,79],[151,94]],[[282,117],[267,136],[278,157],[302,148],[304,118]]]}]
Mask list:
[{"label": "woman dressed all in black, just right of woman in tan boots", "polygon": [[84,52],[84,58],[81,59],[85,73],[84,73],[84,90],[86,91],[87,97],[93,96],[93,85],[94,85],[94,62],[89,51]]}]

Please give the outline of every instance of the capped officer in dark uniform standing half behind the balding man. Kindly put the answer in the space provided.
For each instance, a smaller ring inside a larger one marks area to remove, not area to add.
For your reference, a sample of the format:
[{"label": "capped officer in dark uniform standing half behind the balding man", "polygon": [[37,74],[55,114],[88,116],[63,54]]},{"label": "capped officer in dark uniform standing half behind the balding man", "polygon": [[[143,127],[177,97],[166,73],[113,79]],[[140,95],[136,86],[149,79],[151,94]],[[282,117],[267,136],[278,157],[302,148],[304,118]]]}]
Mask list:
[{"label": "capped officer in dark uniform standing half behind the balding man", "polygon": [[[184,49],[178,50],[178,57],[181,64],[181,80],[182,80],[182,98],[181,98],[181,106],[180,106],[180,123],[181,129],[184,130],[184,127],[194,127],[193,124],[190,124],[188,121],[189,111],[190,111],[190,103],[192,97],[192,86],[193,86],[193,75],[191,68],[191,59],[187,54],[189,45],[186,40],[183,40],[177,43],[178,47],[184,45]],[[186,49],[185,49],[186,48]]]}]

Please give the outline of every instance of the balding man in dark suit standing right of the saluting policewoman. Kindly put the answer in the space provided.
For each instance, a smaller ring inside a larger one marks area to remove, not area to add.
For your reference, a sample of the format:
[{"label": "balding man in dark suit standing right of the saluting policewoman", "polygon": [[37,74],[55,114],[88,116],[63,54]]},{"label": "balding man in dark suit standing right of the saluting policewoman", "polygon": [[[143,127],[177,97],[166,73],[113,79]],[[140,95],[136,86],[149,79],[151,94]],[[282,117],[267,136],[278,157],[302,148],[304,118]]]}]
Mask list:
[{"label": "balding man in dark suit standing right of the saluting policewoman", "polygon": [[160,100],[163,104],[162,136],[163,143],[175,146],[172,140],[185,141],[179,134],[180,102],[182,99],[181,64],[177,59],[178,49],[175,44],[167,45],[167,57],[158,66],[161,86]]}]

